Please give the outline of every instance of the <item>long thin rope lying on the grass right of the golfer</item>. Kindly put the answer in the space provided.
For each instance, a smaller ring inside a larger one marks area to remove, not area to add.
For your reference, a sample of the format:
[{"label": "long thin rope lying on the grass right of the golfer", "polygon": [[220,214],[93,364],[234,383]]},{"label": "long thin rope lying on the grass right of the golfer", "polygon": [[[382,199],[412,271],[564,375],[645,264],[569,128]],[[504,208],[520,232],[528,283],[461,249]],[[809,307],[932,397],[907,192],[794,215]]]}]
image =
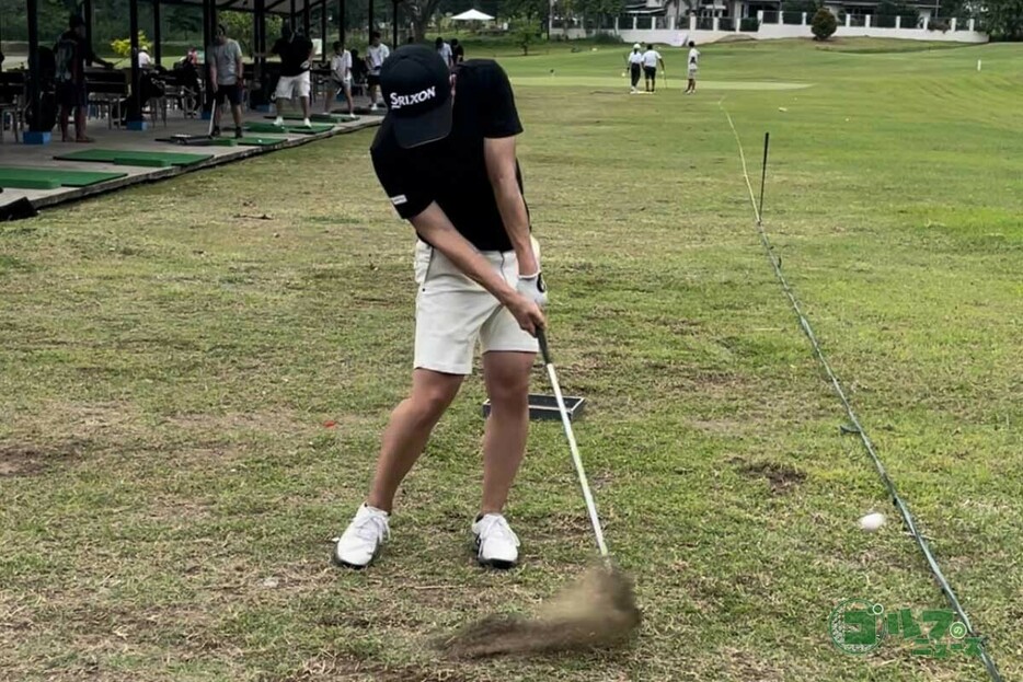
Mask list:
[{"label": "long thin rope lying on the grass right of the golfer", "polygon": [[979,637],[980,660],[984,662],[984,667],[987,669],[988,674],[991,677],[993,682],[1002,682],[1002,677],[998,672],[995,660],[987,651],[987,638],[978,636],[974,631],[974,626],[969,622],[969,619],[967,617],[966,612],[963,610],[963,606],[959,604],[959,600],[956,598],[952,586],[949,585],[949,581],[945,579],[945,575],[942,573],[941,567],[938,565],[938,560],[934,558],[933,553],[931,553],[930,545],[928,544],[924,536],[917,531],[917,524],[909,511],[909,507],[905,501],[903,501],[903,498],[899,496],[898,490],[895,487],[895,483],[892,481],[890,476],[888,476],[888,472],[885,471],[884,464],[882,463],[881,458],[877,455],[877,452],[874,449],[874,443],[866,435],[866,430],[860,424],[860,419],[857,416],[855,411],[853,411],[849,398],[846,396],[846,392],[842,390],[842,384],[839,382],[838,377],[831,369],[831,365],[828,362],[827,357],[824,355],[824,350],[820,348],[820,344],[817,342],[817,336],[814,334],[814,330],[811,326],[809,321],[806,319],[806,315],[803,314],[803,310],[800,308],[800,301],[796,298],[795,292],[789,285],[789,280],[785,279],[785,276],[781,271],[781,262],[774,255],[774,246],[771,245],[767,232],[763,229],[763,217],[760,215],[760,209],[757,207],[752,184],[749,182],[749,169],[746,165],[746,153],[743,151],[743,141],[739,139],[739,134],[735,129],[735,123],[732,120],[732,115],[728,114],[728,111],[724,107],[722,102],[719,102],[717,106],[721,107],[721,111],[724,112],[725,117],[728,119],[728,126],[732,128],[732,134],[735,136],[735,142],[739,149],[739,159],[743,162],[743,177],[746,181],[746,188],[749,190],[749,201],[754,207],[754,215],[757,217],[757,232],[760,235],[760,244],[767,252],[767,256],[771,262],[771,266],[774,268],[774,276],[781,284],[782,290],[785,292],[785,297],[788,297],[789,303],[792,305],[792,310],[795,311],[795,314],[800,320],[800,326],[802,327],[803,333],[806,334],[806,337],[809,339],[809,343],[814,348],[814,355],[817,357],[817,360],[820,362],[821,367],[824,367],[824,371],[828,375],[828,380],[831,382],[831,388],[834,388],[835,393],[838,394],[839,401],[841,401],[842,406],[846,408],[846,416],[849,417],[849,421],[852,424],[851,429],[843,428],[842,430],[848,432],[855,432],[860,436],[860,441],[863,443],[867,454],[870,454],[871,461],[874,464],[874,469],[877,470],[877,475],[881,476],[881,481],[884,483],[885,488],[888,490],[888,495],[892,497],[892,502],[895,505],[896,509],[899,511],[899,515],[903,517],[903,522],[906,524],[906,529],[909,531],[909,534],[913,540],[916,540],[917,546],[919,546],[920,551],[923,553],[928,566],[931,569],[931,574],[938,581],[941,591],[949,600],[953,611],[955,611],[956,615],[963,621],[963,624],[966,626],[967,634],[972,637]]}]

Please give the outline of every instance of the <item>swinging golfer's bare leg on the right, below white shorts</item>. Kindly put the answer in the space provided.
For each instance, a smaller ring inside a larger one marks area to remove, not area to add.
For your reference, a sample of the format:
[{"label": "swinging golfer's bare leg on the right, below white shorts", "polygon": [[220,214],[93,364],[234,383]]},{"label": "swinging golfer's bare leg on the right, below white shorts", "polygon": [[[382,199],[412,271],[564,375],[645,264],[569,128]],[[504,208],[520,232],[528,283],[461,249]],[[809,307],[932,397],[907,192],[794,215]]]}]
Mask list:
[{"label": "swinging golfer's bare leg on the right, below white shorts", "polygon": [[529,373],[533,352],[491,351],[483,355],[483,380],[491,416],[483,435],[483,504],[481,513],[499,513],[508,500],[529,436]]}]

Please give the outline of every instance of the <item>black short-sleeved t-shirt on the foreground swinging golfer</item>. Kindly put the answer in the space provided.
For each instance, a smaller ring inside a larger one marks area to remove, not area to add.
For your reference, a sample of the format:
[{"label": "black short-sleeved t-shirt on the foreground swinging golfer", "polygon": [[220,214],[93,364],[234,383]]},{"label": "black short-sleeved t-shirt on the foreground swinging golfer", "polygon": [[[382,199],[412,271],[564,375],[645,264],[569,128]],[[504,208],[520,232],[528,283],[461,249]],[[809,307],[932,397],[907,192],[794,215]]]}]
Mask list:
[{"label": "black short-sleeved t-shirt on the foreground swinging golfer", "polygon": [[[508,76],[490,59],[462,63],[453,106],[451,134],[413,149],[399,147],[390,116],[384,118],[370,148],[377,177],[402,218],[414,218],[436,201],[480,251],[510,251],[483,155],[484,138],[522,131]],[[516,176],[521,188],[517,162]]]}]

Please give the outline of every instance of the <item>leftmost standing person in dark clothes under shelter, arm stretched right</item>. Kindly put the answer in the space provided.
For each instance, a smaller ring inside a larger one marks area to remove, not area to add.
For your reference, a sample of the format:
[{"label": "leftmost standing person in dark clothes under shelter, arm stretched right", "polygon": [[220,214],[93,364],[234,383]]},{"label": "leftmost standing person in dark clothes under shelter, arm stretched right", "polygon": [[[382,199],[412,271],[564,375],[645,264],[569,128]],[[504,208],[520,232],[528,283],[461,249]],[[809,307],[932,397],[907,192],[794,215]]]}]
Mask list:
[{"label": "leftmost standing person in dark clothes under shelter, arm stretched right", "polygon": [[54,57],[57,66],[57,101],[60,103],[60,139],[70,141],[68,136],[68,119],[71,109],[74,109],[74,141],[91,142],[85,135],[85,109],[89,103],[89,93],[85,90],[85,65],[99,63],[105,69],[113,69],[114,65],[96,57],[92,45],[85,39],[85,20],[72,14],[57,45],[54,46]]}]

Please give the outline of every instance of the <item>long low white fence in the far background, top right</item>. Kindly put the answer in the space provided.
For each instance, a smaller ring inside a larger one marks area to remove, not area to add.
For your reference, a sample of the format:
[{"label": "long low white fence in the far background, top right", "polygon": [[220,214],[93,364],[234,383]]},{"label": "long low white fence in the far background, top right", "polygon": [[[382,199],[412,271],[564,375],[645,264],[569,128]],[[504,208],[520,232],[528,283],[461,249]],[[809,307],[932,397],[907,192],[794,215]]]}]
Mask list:
[{"label": "long low white fence in the far background, top right", "polygon": [[[631,19],[632,25],[628,25]],[[734,37],[736,35],[749,36],[758,41],[769,41],[778,38],[812,38],[811,16],[802,14],[802,21],[796,23],[782,23],[781,12],[771,12],[765,21],[765,13],[757,12],[757,25],[750,30],[750,19],[732,21],[729,19],[703,19],[698,21],[696,16],[681,18],[676,25],[676,18],[667,16],[659,19],[664,28],[651,28],[653,25],[650,18],[623,18],[614,21],[614,28],[604,31],[602,33],[612,33],[621,37],[623,43],[657,43],[660,45],[680,46],[692,39],[698,44],[716,43],[717,41]],[[932,21],[930,18],[921,18],[918,25],[903,27],[901,16],[895,18],[895,26],[875,26],[872,24],[870,14],[864,16],[846,15],[844,25],[839,24],[835,32],[836,37],[872,37],[872,38],[900,38],[906,41],[938,41],[946,43],[987,43],[988,36],[976,30],[974,20],[967,20],[968,23],[961,23],[958,20],[949,21],[946,31],[930,30],[928,25]],[[853,25],[853,22],[862,25]],[[641,27],[642,24],[646,26]],[[709,24],[709,25],[708,25]],[[746,30],[742,30],[744,27]],[[583,28],[568,28],[567,32],[555,28],[554,34],[566,35],[568,39],[584,38],[593,36],[595,31],[585,31]]]}]

